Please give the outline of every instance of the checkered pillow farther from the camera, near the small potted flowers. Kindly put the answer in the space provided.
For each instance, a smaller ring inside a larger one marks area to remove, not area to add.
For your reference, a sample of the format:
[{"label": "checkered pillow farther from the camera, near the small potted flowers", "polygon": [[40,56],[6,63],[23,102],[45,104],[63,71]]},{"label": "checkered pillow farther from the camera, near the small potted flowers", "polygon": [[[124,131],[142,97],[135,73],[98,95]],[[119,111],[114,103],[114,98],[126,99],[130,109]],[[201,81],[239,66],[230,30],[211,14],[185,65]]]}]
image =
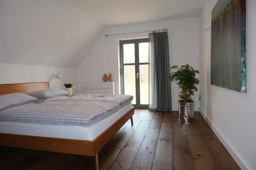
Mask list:
[{"label": "checkered pillow farther from the camera, near the small potted flowers", "polygon": [[67,92],[65,90],[53,90],[53,89],[38,90],[38,91],[34,91],[32,93],[29,93],[29,95],[31,95],[37,99],[48,99],[48,98],[53,98],[56,96],[62,96],[62,95],[67,95],[67,94],[69,94],[69,92]]}]

